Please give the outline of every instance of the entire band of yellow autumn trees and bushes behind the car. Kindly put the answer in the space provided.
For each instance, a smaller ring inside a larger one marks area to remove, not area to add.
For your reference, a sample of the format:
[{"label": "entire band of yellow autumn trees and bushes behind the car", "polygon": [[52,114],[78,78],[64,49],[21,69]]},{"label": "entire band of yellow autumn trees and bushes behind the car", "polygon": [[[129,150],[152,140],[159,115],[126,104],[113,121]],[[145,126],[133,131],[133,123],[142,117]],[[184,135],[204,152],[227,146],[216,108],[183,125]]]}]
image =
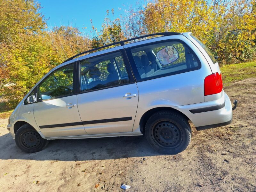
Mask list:
[{"label": "entire band of yellow autumn trees and bushes behind the car", "polygon": [[0,0],[0,5],[0,96],[10,107],[69,57],[134,36],[191,31],[221,65],[256,57],[255,0],[152,0],[113,21],[107,10],[100,31],[92,25],[92,37],[71,26],[48,30],[37,1]]}]

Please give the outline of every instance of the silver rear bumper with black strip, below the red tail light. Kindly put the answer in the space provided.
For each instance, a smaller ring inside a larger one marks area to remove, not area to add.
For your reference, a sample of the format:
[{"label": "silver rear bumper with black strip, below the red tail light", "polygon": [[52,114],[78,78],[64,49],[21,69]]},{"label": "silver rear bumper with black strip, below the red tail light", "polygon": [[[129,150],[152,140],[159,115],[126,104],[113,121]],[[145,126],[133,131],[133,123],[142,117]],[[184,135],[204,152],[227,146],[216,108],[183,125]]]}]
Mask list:
[{"label": "silver rear bumper with black strip, below the red tail light", "polygon": [[224,126],[232,121],[231,101],[224,91],[218,100],[174,108],[185,114],[198,131]]}]

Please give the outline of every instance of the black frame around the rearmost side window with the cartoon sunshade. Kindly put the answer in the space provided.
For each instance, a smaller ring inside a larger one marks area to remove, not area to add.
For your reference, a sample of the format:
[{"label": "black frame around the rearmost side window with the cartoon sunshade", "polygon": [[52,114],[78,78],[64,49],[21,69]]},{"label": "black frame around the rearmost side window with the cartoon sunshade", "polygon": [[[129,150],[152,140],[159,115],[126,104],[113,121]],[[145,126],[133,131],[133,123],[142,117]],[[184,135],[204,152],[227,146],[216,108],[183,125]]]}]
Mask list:
[{"label": "black frame around the rearmost side window with the cartoon sunshade", "polygon": [[[190,51],[192,51],[192,53],[195,55],[196,60],[198,61],[198,66],[195,67],[195,68],[183,69],[183,70],[174,71],[174,72],[171,72],[171,73],[165,73],[165,74],[158,75],[158,76],[151,76],[151,77],[149,76],[149,77],[141,78],[140,75],[139,75],[139,70],[138,70],[138,68],[135,64],[134,59],[133,59],[131,49],[138,48],[138,47],[143,47],[143,46],[148,46],[148,45],[151,45],[151,44],[158,44],[158,43],[165,43],[165,42],[172,42],[172,41],[180,42],[181,44],[186,45],[188,47],[188,49]],[[145,44],[140,44],[140,45],[136,45],[136,46],[127,47],[124,50],[125,50],[125,53],[126,53],[127,57],[131,61],[130,65],[131,65],[132,72],[134,74],[134,78],[135,78],[136,83],[137,82],[142,82],[142,81],[148,81],[148,80],[151,80],[151,79],[166,77],[166,76],[177,75],[177,74],[186,73],[186,72],[190,72],[190,71],[195,71],[195,70],[198,70],[202,67],[201,61],[199,60],[196,53],[193,51],[193,49],[187,43],[185,43],[181,39],[166,39],[166,40],[161,40],[161,41],[154,41],[154,42],[150,42],[150,43],[145,43]]]}]

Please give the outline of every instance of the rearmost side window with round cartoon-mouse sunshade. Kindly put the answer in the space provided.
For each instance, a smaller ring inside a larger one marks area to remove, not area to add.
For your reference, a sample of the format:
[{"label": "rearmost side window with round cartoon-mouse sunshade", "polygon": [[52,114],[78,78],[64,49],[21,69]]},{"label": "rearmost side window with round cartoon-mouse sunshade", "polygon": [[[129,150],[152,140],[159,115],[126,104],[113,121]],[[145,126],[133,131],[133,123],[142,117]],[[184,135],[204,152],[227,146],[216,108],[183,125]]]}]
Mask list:
[{"label": "rearmost side window with round cartoon-mouse sunshade", "polygon": [[195,53],[180,40],[158,41],[126,49],[137,80],[153,79],[201,67]]}]

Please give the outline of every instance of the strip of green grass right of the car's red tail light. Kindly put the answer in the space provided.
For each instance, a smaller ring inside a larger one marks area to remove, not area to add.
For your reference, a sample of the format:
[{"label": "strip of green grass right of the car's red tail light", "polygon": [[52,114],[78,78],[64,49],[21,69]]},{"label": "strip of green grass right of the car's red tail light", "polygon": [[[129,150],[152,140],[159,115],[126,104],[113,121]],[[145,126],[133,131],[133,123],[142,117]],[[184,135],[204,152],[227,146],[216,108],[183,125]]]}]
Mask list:
[{"label": "strip of green grass right of the car's red tail light", "polygon": [[256,77],[256,61],[224,65],[220,68],[224,85]]}]

